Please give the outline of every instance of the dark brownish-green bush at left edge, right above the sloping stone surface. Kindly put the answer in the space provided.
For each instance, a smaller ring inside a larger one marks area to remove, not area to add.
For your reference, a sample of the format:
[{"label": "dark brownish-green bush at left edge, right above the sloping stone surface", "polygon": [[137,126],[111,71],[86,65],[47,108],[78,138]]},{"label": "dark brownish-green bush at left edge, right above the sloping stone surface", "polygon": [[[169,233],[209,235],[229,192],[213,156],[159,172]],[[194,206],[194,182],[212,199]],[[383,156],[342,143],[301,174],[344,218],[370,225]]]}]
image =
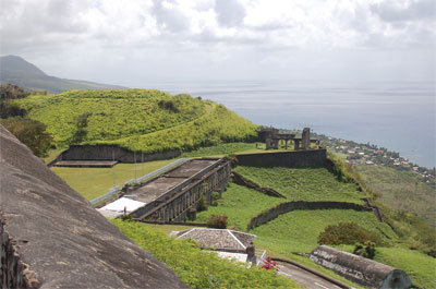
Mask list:
[{"label": "dark brownish-green bush at left edge, right above the sloping stone surface", "polygon": [[1,120],[1,124],[24,143],[36,156],[43,156],[51,144],[51,136],[44,123],[21,117]]}]

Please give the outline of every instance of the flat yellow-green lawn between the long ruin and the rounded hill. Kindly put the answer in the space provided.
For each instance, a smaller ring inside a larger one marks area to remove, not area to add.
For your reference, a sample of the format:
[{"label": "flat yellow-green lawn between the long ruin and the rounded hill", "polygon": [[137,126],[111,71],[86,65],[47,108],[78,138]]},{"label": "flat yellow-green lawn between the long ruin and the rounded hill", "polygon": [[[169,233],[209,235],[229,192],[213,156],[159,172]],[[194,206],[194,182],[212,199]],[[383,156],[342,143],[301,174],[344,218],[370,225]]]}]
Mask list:
[{"label": "flat yellow-green lawn between the long ruin and the rounded hill", "polygon": [[113,186],[113,171],[116,173],[116,184],[122,188],[124,182],[135,178],[135,167],[137,178],[140,178],[174,160],[175,159],[156,160],[136,165],[118,164],[113,168],[52,167],[51,170],[84,197],[93,200],[105,194]]}]

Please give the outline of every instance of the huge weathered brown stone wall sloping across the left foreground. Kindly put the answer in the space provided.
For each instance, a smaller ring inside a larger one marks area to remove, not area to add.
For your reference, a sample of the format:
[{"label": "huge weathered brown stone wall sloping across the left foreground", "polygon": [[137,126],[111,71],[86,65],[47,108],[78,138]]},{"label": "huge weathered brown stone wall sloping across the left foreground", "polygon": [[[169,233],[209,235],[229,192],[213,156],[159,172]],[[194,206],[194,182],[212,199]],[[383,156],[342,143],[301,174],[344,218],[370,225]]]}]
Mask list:
[{"label": "huge weathered brown stone wall sloping across the left foreground", "polygon": [[187,288],[0,125],[2,288]]}]

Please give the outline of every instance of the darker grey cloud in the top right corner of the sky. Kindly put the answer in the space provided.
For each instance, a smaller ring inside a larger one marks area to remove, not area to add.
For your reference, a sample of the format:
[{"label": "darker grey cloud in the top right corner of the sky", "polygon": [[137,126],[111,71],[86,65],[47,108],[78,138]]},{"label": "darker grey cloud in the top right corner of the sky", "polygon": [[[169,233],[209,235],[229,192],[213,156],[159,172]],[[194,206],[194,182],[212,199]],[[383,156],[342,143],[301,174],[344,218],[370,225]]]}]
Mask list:
[{"label": "darker grey cloud in the top right corner of the sky", "polygon": [[386,22],[436,20],[436,2],[434,0],[412,1],[407,7],[399,7],[395,1],[382,2],[372,5],[371,11]]}]

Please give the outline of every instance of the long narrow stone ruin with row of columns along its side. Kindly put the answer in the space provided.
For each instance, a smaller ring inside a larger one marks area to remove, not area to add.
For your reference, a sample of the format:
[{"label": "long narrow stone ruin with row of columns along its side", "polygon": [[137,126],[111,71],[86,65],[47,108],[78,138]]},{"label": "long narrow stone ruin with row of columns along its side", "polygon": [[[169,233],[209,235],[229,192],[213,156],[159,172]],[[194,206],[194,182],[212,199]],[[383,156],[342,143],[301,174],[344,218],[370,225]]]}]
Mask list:
[{"label": "long narrow stone ruin with row of columns along its side", "polygon": [[[226,158],[192,159],[129,190],[136,201],[145,206],[131,213],[136,220],[158,220],[161,222],[193,220],[192,212],[204,197],[213,202],[213,192],[221,192],[230,179],[231,166]],[[189,214],[190,213],[190,214]]]}]

